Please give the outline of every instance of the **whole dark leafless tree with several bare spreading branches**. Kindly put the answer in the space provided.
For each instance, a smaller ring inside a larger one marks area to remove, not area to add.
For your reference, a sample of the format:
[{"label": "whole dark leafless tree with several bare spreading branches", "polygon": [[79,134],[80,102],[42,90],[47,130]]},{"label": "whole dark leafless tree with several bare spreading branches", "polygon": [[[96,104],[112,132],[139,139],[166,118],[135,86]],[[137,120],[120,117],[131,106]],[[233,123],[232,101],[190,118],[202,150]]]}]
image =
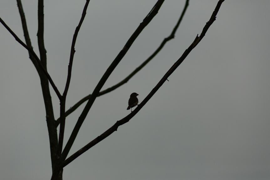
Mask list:
[{"label": "whole dark leafless tree with several bare spreading branches", "polygon": [[[186,12],[186,9],[189,4],[189,0],[186,0],[184,9],[174,26],[171,34],[165,38],[160,46],[149,56],[148,59],[146,59],[140,66],[138,66],[130,75],[128,75],[125,79],[117,83],[116,85],[113,85],[112,87],[102,90],[101,88],[105,84],[108,77],[111,75],[113,70],[116,68],[117,64],[122,60],[122,58],[127,53],[128,49],[131,47],[132,43],[135,41],[135,39],[139,36],[139,34],[143,31],[143,29],[148,25],[148,23],[155,17],[155,15],[158,13],[158,10],[161,8],[162,4],[164,3],[164,0],[158,0],[157,3],[153,6],[153,8],[150,10],[150,12],[146,15],[146,17],[143,19],[142,23],[138,26],[138,28],[134,31],[134,33],[130,36],[130,38],[127,40],[127,43],[123,46],[122,50],[118,53],[116,58],[112,61],[111,65],[108,67],[106,72],[103,74],[101,79],[99,80],[98,84],[96,85],[96,88],[92,92],[92,94],[89,94],[79,100],[75,105],[73,105],[69,110],[65,111],[65,104],[66,104],[66,98],[67,93],[69,90],[70,85],[70,79],[71,79],[71,72],[72,72],[72,64],[75,54],[75,43],[78,36],[78,33],[80,31],[81,25],[84,21],[84,18],[86,17],[86,10],[88,7],[90,0],[86,0],[85,6],[83,8],[83,12],[79,21],[78,26],[75,29],[73,39],[72,39],[72,45],[70,49],[70,60],[68,65],[68,75],[67,80],[65,84],[64,92],[61,94],[58,88],[56,87],[54,81],[50,77],[49,73],[47,72],[47,57],[46,57],[46,49],[44,45],[44,1],[39,0],[38,1],[38,46],[39,46],[39,56],[34,52],[31,40],[28,33],[28,28],[26,24],[26,18],[24,16],[23,12],[23,6],[21,3],[21,0],[17,0],[18,4],[18,10],[21,17],[22,27],[23,27],[23,34],[25,37],[25,43],[8,27],[8,25],[0,18],[0,22],[3,24],[3,26],[13,35],[13,37],[29,52],[29,59],[34,64],[34,67],[37,70],[37,73],[40,78],[41,82],[41,88],[43,93],[43,99],[44,99],[44,105],[46,110],[46,122],[47,122],[47,128],[49,133],[49,143],[50,143],[50,154],[51,154],[51,164],[52,164],[52,176],[51,179],[62,179],[62,173],[63,168],[68,165],[70,162],[75,160],[77,157],[79,157],[81,154],[89,150],[91,147],[95,146],[98,142],[102,141],[106,137],[110,136],[114,131],[117,131],[117,128],[125,123],[127,123],[129,120],[132,119],[133,116],[135,116],[141,108],[148,102],[148,100],[155,94],[155,92],[164,84],[166,80],[168,80],[168,77],[174,72],[174,70],[183,62],[183,60],[187,57],[187,55],[191,52],[192,49],[196,47],[196,45],[200,42],[200,40],[205,36],[206,31],[210,27],[210,25],[215,21],[215,17],[219,11],[219,8],[221,7],[221,4],[224,2],[224,0],[219,0],[214,12],[212,13],[209,21],[205,24],[205,27],[203,28],[200,36],[197,35],[195,40],[190,44],[190,46],[184,51],[182,56],[171,66],[171,68],[167,71],[167,73],[162,77],[162,79],[158,82],[158,84],[153,88],[153,90],[143,99],[143,101],[137,106],[137,108],[132,111],[127,116],[123,117],[121,120],[118,120],[112,127],[110,127],[108,130],[103,132],[100,136],[96,137],[94,140],[90,141],[88,144],[86,144],[84,147],[82,147],[80,150],[72,154],[70,157],[67,157],[70,148],[72,147],[75,138],[80,130],[80,127],[82,126],[84,120],[86,119],[86,116],[91,109],[91,106],[93,105],[95,99],[98,96],[104,95],[106,93],[111,92],[112,90],[117,89],[121,85],[127,83],[129,79],[131,79],[138,71],[140,71],[150,60],[152,60],[156,54],[160,52],[160,50],[164,47],[164,45],[171,39],[174,38],[174,35],[179,27],[179,24]],[[49,84],[52,86],[53,90],[55,91],[57,97],[60,100],[60,117],[55,120],[55,116],[53,113],[53,106],[52,106],[52,99],[50,95],[49,90]],[[78,117],[78,120],[76,122],[76,125],[65,145],[63,148],[63,138],[64,138],[64,132],[65,132],[65,118],[69,114],[71,114],[75,109],[77,109],[83,102],[87,101],[82,113]],[[60,132],[59,135],[57,135],[57,127],[60,125]]]}]

